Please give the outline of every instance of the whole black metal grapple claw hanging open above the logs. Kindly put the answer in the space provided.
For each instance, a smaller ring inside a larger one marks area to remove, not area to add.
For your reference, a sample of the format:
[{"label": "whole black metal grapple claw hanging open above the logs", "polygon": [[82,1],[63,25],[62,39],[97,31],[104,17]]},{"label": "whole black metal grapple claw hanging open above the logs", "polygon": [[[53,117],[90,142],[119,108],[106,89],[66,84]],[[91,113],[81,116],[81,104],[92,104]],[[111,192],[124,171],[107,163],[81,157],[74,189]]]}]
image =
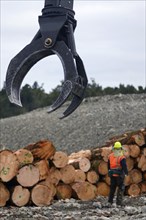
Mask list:
[{"label": "whole black metal grapple claw hanging open above the logs", "polygon": [[6,92],[10,102],[22,106],[20,86],[25,75],[35,63],[53,54],[62,62],[64,83],[59,97],[48,112],[59,108],[71,94],[72,101],[60,118],[71,114],[82,102],[88,80],[75,47],[74,30],[77,22],[74,19],[73,1],[45,0],[42,15],[39,16],[39,31],[8,66]]}]

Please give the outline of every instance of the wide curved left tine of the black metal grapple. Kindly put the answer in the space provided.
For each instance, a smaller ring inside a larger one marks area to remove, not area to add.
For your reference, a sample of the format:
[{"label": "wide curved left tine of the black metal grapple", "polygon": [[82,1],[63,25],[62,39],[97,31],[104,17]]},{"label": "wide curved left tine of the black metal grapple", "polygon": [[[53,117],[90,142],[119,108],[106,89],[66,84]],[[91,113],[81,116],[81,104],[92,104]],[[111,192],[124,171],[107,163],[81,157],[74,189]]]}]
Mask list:
[{"label": "wide curved left tine of the black metal grapple", "polygon": [[6,92],[12,103],[22,106],[20,86],[24,77],[35,63],[52,54],[52,51],[42,49],[40,40],[36,40],[27,45],[11,60],[6,75]]}]

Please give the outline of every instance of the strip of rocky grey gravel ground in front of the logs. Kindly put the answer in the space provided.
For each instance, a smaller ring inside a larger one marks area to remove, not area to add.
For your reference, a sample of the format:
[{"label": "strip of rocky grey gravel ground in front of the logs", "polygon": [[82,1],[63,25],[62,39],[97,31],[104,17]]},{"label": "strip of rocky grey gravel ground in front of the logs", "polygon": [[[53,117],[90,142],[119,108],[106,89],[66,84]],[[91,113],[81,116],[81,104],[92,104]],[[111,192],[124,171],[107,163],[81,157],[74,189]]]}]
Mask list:
[{"label": "strip of rocky grey gravel ground in front of the logs", "polygon": [[93,201],[74,199],[54,201],[49,207],[5,207],[0,209],[1,220],[145,220],[146,197],[125,197],[125,206],[106,207],[107,199]]}]

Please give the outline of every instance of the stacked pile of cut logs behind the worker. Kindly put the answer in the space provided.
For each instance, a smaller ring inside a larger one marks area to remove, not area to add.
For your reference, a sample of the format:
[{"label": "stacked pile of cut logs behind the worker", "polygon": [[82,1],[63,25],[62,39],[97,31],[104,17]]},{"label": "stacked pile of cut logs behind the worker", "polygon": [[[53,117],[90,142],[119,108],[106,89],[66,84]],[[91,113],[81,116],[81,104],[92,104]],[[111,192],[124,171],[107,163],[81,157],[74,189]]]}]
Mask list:
[{"label": "stacked pile of cut logs behind the worker", "polygon": [[124,148],[129,175],[125,193],[146,193],[146,129],[110,138],[104,146],[67,155],[49,140],[15,152],[0,152],[0,207],[48,206],[55,199],[88,201],[110,190],[108,155],[115,141]]}]

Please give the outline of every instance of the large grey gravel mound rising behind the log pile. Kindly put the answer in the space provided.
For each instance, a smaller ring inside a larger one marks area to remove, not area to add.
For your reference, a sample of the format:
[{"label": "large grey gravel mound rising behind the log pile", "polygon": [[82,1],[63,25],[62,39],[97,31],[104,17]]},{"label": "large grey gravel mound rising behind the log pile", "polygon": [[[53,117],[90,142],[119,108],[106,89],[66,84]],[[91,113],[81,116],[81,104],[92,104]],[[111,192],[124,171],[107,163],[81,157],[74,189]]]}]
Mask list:
[{"label": "large grey gravel mound rising behind the log pile", "polygon": [[111,136],[146,127],[146,94],[85,99],[69,117],[59,116],[69,103],[48,114],[47,108],[1,119],[0,148],[18,149],[50,139],[68,154],[103,145]]}]

